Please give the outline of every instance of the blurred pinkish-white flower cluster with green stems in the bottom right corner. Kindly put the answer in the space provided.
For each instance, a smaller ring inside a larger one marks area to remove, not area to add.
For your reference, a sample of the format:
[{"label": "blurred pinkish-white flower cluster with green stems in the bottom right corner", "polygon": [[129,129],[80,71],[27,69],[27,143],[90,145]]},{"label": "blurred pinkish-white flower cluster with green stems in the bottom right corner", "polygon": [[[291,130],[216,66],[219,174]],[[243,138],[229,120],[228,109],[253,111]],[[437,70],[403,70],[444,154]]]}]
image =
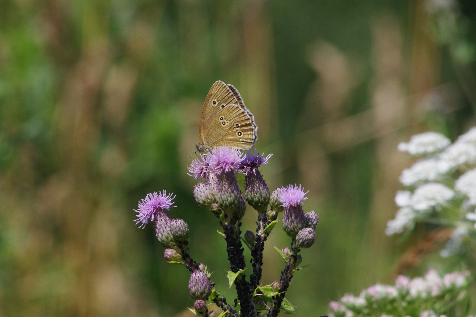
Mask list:
[{"label": "blurred pinkish-white flower cluster with green stems in the bottom right corner", "polygon": [[469,271],[440,277],[436,270],[430,269],[424,277],[414,279],[400,275],[395,286],[376,284],[364,289],[359,296],[346,294],[340,301],[331,302],[329,317],[406,316],[402,315],[402,308],[409,314],[418,311],[421,317],[441,317],[445,315],[435,315],[433,311],[440,307],[440,312],[446,313],[441,311],[440,300],[461,300],[461,292],[469,287],[469,283]]}]

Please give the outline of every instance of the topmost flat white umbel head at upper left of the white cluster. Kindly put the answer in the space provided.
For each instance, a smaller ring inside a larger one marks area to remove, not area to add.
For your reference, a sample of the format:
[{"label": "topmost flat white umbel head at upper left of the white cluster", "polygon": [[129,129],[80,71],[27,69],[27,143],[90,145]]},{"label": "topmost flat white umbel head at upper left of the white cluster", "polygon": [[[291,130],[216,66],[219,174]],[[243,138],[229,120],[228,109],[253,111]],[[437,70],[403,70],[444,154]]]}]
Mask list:
[{"label": "topmost flat white umbel head at upper left of the white cluster", "polygon": [[398,144],[398,150],[411,155],[426,155],[441,152],[446,149],[451,141],[443,134],[425,132],[413,135],[408,143]]}]

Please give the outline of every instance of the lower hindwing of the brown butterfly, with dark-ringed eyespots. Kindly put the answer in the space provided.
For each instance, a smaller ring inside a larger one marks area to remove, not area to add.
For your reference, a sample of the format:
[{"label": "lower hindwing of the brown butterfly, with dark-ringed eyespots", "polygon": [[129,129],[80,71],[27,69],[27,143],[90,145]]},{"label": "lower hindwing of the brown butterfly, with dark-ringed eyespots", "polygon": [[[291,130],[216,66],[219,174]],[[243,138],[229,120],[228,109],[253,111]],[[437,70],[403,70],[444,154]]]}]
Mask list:
[{"label": "lower hindwing of the brown butterfly, with dark-ringed eyespots", "polygon": [[204,145],[214,147],[227,144],[247,150],[255,145],[258,126],[254,116],[239,105],[228,105],[212,119],[204,135]]}]

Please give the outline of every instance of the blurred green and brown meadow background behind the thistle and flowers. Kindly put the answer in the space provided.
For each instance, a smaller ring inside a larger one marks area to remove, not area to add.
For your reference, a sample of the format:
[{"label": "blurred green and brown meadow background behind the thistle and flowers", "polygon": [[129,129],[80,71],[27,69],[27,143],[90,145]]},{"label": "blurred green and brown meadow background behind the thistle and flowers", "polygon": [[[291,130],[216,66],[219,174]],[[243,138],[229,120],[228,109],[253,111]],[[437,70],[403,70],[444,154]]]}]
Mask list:
[{"label": "blurred green and brown meadow background behind the thistle and flowers", "polygon": [[[187,175],[216,80],[255,115],[270,189],[302,184],[320,214],[295,316],[390,282],[419,239],[384,234],[412,163],[397,144],[474,125],[475,43],[473,0],[0,0],[0,316],[188,316],[188,271],[133,221],[163,189],[232,301],[218,221]],[[264,283],[288,243],[278,225]],[[445,264],[404,273],[430,265]]]}]

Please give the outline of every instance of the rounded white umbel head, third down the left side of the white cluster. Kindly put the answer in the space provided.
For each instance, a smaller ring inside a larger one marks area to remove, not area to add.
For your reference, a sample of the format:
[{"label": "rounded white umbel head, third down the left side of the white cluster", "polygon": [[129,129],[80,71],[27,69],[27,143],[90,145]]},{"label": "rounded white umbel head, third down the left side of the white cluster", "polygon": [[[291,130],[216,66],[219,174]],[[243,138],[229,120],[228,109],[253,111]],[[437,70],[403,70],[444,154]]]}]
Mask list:
[{"label": "rounded white umbel head, third down the left side of the white cluster", "polygon": [[440,183],[427,183],[418,187],[410,199],[410,206],[417,211],[427,211],[446,204],[455,192]]}]

